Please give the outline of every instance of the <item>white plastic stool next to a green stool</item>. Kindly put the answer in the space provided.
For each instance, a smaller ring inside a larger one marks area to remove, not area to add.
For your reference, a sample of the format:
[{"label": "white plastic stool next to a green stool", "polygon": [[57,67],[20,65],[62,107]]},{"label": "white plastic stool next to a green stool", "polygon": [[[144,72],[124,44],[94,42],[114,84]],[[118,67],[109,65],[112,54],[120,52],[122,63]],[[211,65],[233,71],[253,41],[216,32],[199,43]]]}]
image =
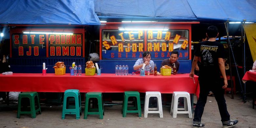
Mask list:
[{"label": "white plastic stool next to a green stool", "polygon": [[[148,107],[150,97],[157,97],[157,108]],[[156,111],[152,111],[152,110],[156,110]],[[160,118],[163,117],[162,99],[161,99],[160,92],[146,92],[145,103],[144,103],[144,118],[147,118],[149,113],[159,113]]]}]

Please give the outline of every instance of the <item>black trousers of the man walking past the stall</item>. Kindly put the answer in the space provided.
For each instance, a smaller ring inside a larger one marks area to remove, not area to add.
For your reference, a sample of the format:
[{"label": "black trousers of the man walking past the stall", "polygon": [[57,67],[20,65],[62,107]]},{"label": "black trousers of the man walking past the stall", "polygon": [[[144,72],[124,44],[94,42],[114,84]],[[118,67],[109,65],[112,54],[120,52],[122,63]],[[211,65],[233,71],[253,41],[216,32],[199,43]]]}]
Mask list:
[{"label": "black trousers of the man walking past the stall", "polygon": [[203,79],[201,78],[199,81],[200,84],[200,94],[199,99],[196,104],[195,114],[193,121],[201,122],[201,118],[203,115],[203,110],[205,103],[207,101],[207,95],[209,90],[211,90],[215,96],[215,99],[218,103],[221,121],[228,121],[230,119],[230,115],[227,112],[226,100],[224,98],[224,89],[222,86],[224,85],[223,79]]}]

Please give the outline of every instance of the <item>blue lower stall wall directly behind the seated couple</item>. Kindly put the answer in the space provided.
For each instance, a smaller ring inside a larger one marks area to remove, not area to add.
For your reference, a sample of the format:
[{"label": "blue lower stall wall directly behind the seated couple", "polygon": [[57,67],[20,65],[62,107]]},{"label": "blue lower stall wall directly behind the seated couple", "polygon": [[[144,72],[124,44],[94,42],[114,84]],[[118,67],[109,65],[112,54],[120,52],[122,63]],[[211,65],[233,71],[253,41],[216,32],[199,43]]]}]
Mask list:
[{"label": "blue lower stall wall directly behind the seated couple", "polygon": [[[160,66],[162,60],[153,60],[157,64],[157,71],[160,72]],[[180,62],[180,68],[178,73],[190,73],[191,70],[191,60],[178,60]],[[128,65],[129,73],[135,72],[133,70],[133,65],[136,60],[99,60],[99,66],[101,66],[101,73],[115,73],[115,66],[118,65]]]}]

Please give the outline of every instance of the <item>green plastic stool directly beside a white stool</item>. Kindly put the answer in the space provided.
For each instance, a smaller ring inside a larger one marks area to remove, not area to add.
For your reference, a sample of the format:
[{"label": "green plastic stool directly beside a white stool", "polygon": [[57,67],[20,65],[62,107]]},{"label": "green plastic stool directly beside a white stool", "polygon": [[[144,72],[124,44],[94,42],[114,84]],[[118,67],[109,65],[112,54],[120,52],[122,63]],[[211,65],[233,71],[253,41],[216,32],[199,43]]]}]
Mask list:
[{"label": "green plastic stool directly beside a white stool", "polygon": [[[134,107],[128,107],[128,98],[131,96],[134,97]],[[137,101],[137,103],[136,103],[136,101]],[[124,92],[122,113],[123,113],[123,117],[126,117],[127,113],[138,113],[139,117],[141,117],[139,92],[137,92],[137,91],[125,91]]]}]

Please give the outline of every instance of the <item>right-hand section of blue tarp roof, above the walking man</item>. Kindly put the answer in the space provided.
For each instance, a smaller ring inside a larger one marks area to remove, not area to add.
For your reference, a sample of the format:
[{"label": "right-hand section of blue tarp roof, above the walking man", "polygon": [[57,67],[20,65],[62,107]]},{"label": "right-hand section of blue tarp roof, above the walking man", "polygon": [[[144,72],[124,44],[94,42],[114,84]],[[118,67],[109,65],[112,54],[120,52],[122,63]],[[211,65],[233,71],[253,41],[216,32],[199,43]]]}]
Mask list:
[{"label": "right-hand section of blue tarp roof, above the walking man", "polygon": [[187,1],[198,19],[256,22],[255,0]]}]

